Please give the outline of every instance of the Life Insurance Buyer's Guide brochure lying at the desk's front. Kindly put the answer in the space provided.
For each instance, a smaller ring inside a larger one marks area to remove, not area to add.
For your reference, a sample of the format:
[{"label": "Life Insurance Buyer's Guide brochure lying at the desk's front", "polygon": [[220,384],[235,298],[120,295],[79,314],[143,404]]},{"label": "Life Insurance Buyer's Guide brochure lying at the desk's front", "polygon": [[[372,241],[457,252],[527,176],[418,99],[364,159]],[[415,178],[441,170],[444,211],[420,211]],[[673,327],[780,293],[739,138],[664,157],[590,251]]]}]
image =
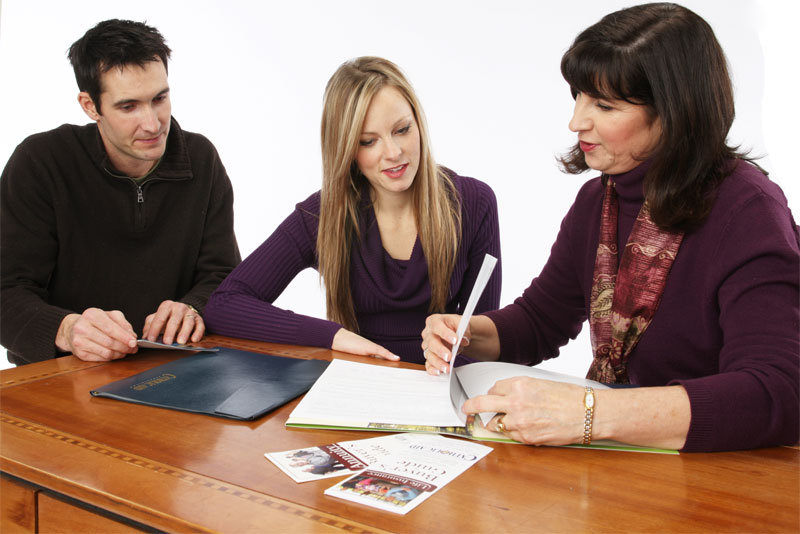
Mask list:
[{"label": "Life Insurance Buyer's Guide brochure lying at the desk's front", "polygon": [[492,449],[436,434],[413,434],[403,450],[325,490],[326,495],[407,514]]}]

